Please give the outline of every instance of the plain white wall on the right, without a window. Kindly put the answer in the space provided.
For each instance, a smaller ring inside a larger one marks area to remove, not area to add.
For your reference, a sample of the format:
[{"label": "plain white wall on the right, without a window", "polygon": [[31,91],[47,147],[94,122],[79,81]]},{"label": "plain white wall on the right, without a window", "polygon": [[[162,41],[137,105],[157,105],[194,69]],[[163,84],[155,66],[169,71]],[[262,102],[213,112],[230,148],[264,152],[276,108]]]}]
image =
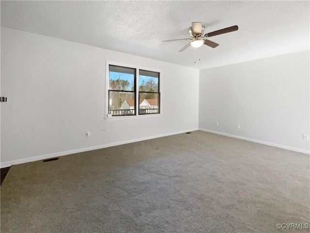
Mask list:
[{"label": "plain white wall on the right, without a window", "polygon": [[200,70],[199,128],[309,153],[309,55]]}]

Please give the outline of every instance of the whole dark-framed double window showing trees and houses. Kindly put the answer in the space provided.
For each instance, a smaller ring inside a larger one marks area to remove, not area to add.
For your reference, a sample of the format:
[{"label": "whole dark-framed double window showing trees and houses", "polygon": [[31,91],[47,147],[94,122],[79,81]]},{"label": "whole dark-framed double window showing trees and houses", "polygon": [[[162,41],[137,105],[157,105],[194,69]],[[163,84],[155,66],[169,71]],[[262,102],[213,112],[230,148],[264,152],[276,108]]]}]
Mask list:
[{"label": "whole dark-framed double window showing trees and houses", "polygon": [[[160,72],[109,65],[108,114],[159,114],[159,75]],[[139,83],[139,88],[136,83]]]}]

